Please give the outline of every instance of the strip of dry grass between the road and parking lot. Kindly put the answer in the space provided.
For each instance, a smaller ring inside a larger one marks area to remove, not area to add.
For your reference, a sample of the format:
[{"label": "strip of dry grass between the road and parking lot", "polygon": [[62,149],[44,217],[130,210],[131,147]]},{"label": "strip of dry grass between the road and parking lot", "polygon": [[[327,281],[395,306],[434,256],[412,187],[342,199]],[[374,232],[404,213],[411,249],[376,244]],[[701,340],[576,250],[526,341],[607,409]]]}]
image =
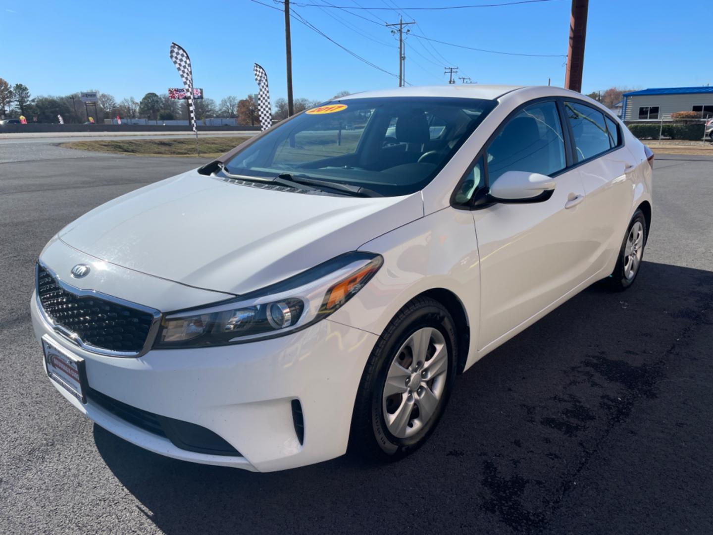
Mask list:
[{"label": "strip of dry grass between the road and parking lot", "polygon": [[[216,158],[250,138],[198,138],[200,156]],[[79,151],[98,151],[103,153],[127,154],[130,156],[198,156],[195,152],[195,139],[118,139],[96,141],[69,141],[60,143],[61,147]]]}]

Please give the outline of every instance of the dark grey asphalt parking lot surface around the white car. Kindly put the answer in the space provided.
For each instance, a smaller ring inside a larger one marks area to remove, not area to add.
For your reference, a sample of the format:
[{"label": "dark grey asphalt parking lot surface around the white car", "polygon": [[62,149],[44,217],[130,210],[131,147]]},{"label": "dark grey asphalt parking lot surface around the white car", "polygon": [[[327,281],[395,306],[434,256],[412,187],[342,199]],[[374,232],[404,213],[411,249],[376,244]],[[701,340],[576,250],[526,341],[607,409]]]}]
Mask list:
[{"label": "dark grey asphalt parking lot surface around the white car", "polygon": [[44,243],[201,161],[0,143],[0,162],[1,533],[713,533],[713,158],[657,156],[636,285],[590,287],[478,362],[419,452],[272,474],[105,432],[32,335]]}]

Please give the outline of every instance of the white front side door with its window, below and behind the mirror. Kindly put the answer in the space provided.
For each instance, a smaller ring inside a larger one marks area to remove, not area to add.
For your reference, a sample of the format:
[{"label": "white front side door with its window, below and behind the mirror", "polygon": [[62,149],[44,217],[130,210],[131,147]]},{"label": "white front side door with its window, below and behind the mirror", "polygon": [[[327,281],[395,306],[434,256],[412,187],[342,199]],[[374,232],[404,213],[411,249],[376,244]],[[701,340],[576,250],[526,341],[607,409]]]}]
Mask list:
[{"label": "white front side door with its window, below and behind the mirror", "polygon": [[[493,185],[508,170],[555,178],[552,197],[539,203],[496,203],[473,210],[481,263],[478,349],[496,342],[585,279],[585,190],[568,170],[561,105],[528,104],[508,118],[473,169]],[[467,180],[466,180],[467,183]]]}]

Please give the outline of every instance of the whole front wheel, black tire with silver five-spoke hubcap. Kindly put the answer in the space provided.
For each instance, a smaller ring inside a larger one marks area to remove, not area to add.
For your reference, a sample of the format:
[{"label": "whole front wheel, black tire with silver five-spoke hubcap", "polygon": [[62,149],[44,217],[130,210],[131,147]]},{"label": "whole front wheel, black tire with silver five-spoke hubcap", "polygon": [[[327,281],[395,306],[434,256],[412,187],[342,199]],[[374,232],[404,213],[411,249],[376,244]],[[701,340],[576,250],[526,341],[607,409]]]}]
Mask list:
[{"label": "whole front wheel, black tire with silver five-spoke hubcap", "polygon": [[417,297],[402,308],[361,377],[350,452],[396,460],[424,444],[451,394],[457,347],[455,323],[441,303]]}]

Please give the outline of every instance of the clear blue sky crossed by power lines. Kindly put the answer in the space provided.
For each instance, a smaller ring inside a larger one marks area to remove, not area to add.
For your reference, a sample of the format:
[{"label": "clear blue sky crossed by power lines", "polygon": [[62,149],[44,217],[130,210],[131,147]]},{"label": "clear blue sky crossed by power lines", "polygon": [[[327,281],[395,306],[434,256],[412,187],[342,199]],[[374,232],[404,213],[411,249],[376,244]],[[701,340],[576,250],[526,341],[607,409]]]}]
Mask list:
[{"label": "clear blue sky crossed by power lines", "polygon": [[[261,0],[277,6],[273,0]],[[413,17],[414,34],[481,49],[540,58],[506,56],[429,45],[409,36],[406,80],[446,83],[446,60],[478,83],[563,86],[570,0],[481,9],[409,11],[409,6],[453,6],[507,0],[293,0],[294,10],[339,44],[386,71],[398,73],[398,47],[379,24]],[[394,8],[353,11],[299,4]],[[711,0],[592,0],[587,29],[583,92],[610,86],[647,88],[713,83]],[[700,21],[700,24],[697,24]],[[171,41],[193,61],[196,87],[205,96],[255,93],[252,63],[270,78],[272,100],[287,95],[284,15],[250,0],[32,1],[0,0],[0,78],[24,83],[34,96],[89,88],[120,100],[165,93],[180,86],[168,58]],[[435,48],[434,48],[435,47]],[[338,91],[398,85],[312,29],[292,21],[295,98],[324,100]],[[459,81],[460,82],[460,81]]]}]

